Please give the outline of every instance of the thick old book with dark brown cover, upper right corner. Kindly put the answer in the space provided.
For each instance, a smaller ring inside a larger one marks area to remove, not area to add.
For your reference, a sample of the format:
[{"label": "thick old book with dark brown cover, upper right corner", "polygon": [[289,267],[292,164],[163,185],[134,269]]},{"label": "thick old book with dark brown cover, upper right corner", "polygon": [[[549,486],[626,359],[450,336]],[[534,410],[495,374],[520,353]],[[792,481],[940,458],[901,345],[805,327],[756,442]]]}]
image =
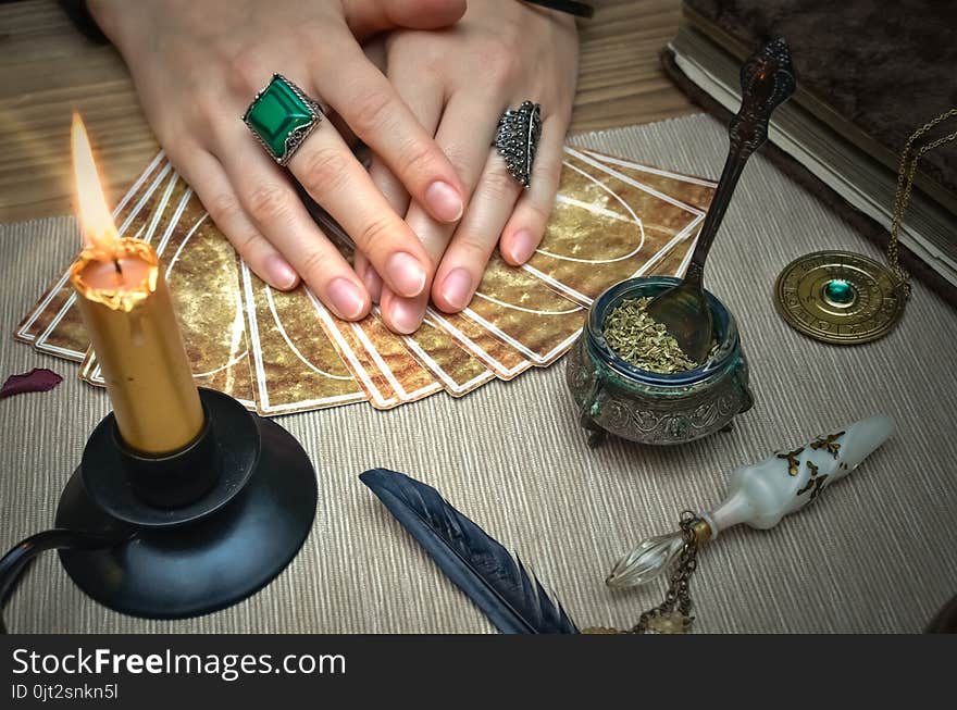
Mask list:
[{"label": "thick old book with dark brown cover, upper right corner", "polygon": [[[742,61],[763,40],[787,40],[799,88],[774,115],[770,157],[886,245],[907,137],[957,105],[957,5],[684,0],[682,10],[666,68],[725,117],[741,101]],[[957,117],[929,135],[955,129]],[[957,303],[957,142],[921,161],[900,241],[905,264]]]}]

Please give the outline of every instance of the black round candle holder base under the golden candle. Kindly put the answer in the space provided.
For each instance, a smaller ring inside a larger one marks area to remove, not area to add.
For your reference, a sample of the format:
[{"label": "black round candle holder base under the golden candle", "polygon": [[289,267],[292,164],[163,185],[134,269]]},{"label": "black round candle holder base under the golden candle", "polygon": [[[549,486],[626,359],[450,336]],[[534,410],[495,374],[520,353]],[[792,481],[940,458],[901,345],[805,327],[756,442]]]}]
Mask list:
[{"label": "black round candle holder base under the golden candle", "polygon": [[[151,619],[223,609],[276,577],[312,528],[315,472],[293,435],[226,395],[200,389],[200,398],[210,423],[203,436],[213,437],[203,448],[213,454],[197,456],[194,445],[175,454],[198,479],[209,477],[203,466],[219,468],[198,498],[163,508],[145,502],[134,482],[117,485],[130,476],[129,453],[117,447],[110,414],[60,499],[58,527],[129,533],[109,549],[60,550],[76,585],[110,609]],[[175,469],[175,456],[160,471]]]}]

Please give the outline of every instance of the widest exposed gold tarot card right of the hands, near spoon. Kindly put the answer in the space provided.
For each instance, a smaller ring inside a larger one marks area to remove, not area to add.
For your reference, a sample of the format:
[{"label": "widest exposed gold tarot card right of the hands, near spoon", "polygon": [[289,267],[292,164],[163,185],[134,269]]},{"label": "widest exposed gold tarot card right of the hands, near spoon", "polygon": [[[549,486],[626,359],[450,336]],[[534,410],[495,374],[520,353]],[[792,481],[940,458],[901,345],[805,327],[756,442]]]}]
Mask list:
[{"label": "widest exposed gold tarot card right of the hands, near spoon", "polygon": [[[572,148],[564,151],[555,211],[542,245],[522,267],[526,272],[589,306],[609,286],[654,273],[671,250],[693,244],[703,209],[643,185],[616,165]],[[691,185],[687,191],[701,201],[709,187]]]}]

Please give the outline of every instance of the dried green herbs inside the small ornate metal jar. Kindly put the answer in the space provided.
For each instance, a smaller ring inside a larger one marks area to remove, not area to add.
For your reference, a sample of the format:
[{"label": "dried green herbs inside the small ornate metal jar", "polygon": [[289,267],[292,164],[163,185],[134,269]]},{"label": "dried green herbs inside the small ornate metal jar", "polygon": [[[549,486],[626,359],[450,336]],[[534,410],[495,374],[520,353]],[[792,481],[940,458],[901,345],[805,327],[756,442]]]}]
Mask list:
[{"label": "dried green herbs inside the small ornate metal jar", "polygon": [[[650,298],[622,301],[605,319],[605,340],[619,358],[629,364],[662,374],[694,370],[694,362],[668,334],[664,325],[648,315],[645,310]],[[709,358],[714,354],[717,344]]]}]

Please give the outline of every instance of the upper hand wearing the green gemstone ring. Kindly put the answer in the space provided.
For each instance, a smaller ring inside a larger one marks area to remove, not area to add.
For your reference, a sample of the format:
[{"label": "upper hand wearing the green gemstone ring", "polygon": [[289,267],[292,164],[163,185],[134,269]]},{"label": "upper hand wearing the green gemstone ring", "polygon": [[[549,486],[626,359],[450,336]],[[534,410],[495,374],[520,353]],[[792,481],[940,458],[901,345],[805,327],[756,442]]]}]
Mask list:
[{"label": "upper hand wearing the green gemstone ring", "polygon": [[[451,163],[358,39],[395,27],[456,22],[464,0],[89,0],[123,54],[147,117],[176,170],[264,281],[298,276],[337,315],[355,320],[370,297],[310,219],[283,170],[240,120],[273,73],[327,104],[436,223],[462,214]],[[357,39],[358,38],[358,39]],[[302,142],[288,170],[343,225],[396,294],[426,289],[432,260],[331,121]]]}]

